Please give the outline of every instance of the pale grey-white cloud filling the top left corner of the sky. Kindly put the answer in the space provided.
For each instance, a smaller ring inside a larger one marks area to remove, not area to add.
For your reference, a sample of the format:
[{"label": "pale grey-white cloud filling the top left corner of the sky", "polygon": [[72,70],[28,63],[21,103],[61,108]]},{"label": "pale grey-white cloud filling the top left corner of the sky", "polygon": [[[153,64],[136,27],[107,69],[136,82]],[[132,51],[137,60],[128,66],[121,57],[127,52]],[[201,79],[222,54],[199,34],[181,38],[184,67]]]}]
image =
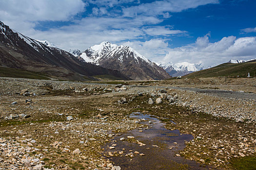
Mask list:
[{"label": "pale grey-white cloud filling the top left corner of the sky", "polygon": [[65,21],[84,10],[82,0],[1,0],[4,20]]}]

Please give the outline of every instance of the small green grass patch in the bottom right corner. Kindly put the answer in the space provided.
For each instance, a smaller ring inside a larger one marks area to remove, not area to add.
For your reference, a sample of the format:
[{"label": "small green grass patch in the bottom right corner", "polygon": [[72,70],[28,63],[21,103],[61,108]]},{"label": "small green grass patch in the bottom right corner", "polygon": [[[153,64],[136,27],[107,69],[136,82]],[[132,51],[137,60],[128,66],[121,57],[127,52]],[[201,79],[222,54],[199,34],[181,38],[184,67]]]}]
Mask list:
[{"label": "small green grass patch in the bottom right corner", "polygon": [[234,158],[231,165],[235,170],[256,170],[256,157]]}]

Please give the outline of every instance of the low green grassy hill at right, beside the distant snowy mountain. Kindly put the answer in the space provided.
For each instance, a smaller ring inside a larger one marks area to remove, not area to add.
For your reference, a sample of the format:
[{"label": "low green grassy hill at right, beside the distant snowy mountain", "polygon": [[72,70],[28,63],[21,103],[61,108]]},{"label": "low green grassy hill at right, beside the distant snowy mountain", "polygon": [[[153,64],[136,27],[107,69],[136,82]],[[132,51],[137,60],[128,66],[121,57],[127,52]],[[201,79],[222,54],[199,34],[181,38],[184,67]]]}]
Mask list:
[{"label": "low green grassy hill at right, beside the distant snowy mountain", "polygon": [[183,76],[184,78],[199,78],[199,77],[247,77],[256,76],[256,63],[224,63],[214,68],[208,68]]}]

